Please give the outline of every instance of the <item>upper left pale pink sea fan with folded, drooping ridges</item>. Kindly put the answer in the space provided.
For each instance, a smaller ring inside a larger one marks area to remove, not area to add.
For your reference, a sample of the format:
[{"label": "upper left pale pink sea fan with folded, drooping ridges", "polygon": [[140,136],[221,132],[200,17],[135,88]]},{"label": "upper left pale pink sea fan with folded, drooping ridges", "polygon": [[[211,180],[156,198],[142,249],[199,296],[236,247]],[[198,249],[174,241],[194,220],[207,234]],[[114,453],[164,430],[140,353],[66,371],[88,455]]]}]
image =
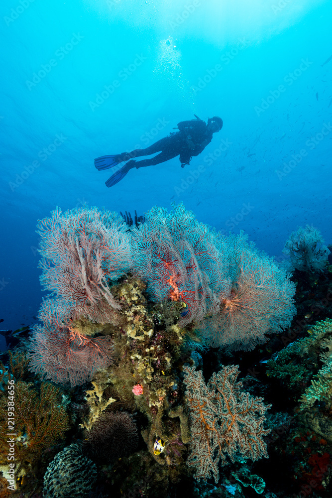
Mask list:
[{"label": "upper left pale pink sea fan with folded, drooping ridges", "polygon": [[115,324],[120,305],[109,283],[130,267],[130,235],[123,219],[97,208],[64,214],[57,208],[37,228],[44,288],[73,304],[73,318]]}]

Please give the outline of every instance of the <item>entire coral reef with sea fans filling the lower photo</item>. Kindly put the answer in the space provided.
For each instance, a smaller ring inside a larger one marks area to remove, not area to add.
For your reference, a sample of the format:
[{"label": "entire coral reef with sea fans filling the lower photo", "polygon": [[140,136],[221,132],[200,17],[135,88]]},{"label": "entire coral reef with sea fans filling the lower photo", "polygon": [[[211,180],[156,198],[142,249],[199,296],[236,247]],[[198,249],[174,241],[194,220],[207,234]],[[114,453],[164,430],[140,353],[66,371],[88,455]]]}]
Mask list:
[{"label": "entire coral reef with sea fans filling the lower photo", "polygon": [[14,474],[13,498],[330,498],[332,274],[308,286],[182,204],[125,220],[39,223],[53,297],[2,355],[0,496]]}]

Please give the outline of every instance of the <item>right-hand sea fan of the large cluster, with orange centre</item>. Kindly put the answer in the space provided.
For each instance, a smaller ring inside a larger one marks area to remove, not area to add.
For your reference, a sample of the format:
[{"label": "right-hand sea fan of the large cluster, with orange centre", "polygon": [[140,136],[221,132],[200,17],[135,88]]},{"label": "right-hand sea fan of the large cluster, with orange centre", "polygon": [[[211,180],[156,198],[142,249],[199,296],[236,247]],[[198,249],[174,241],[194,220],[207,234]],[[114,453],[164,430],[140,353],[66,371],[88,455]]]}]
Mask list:
[{"label": "right-hand sea fan of the large cluster, with orange centre", "polygon": [[265,334],[284,330],[296,312],[289,275],[246,239],[241,232],[223,242],[231,286],[220,296],[220,310],[204,321],[201,331],[211,346],[230,351],[249,351],[265,343]]}]

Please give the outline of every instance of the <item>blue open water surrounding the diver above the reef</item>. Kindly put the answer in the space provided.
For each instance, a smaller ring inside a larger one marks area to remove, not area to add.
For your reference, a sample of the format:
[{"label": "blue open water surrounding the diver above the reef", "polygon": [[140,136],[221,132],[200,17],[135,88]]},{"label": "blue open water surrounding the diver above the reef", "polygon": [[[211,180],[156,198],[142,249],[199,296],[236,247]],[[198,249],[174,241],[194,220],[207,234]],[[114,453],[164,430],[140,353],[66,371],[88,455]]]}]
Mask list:
[{"label": "blue open water surrounding the diver above the reef", "polygon": [[[182,201],[282,259],[311,224],[331,242],[332,5],[318,0],[2,0],[1,328],[41,302],[38,219],[87,203],[138,214]],[[218,115],[190,166],[94,158]],[[210,155],[209,155],[210,154]]]}]

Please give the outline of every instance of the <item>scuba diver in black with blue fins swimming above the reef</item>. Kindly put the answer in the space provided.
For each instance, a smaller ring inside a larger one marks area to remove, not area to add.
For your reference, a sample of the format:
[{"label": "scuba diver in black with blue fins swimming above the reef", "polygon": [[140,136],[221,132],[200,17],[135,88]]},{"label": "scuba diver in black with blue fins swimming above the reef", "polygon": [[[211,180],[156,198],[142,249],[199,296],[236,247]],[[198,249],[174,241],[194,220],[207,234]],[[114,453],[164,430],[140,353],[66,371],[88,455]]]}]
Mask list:
[{"label": "scuba diver in black with blue fins swimming above the reef", "polygon": [[[222,128],[222,119],[218,116],[208,119],[208,124],[194,114],[195,120],[181,121],[178,130],[170,133],[153,143],[145,149],[135,149],[132,152],[122,152],[121,154],[106,155],[95,159],[95,166],[99,171],[112,168],[122,161],[128,161],[121,169],[114,173],[105,183],[107,187],[112,187],[118,183],[132,168],[143,168],[168,161],[180,155],[181,167],[190,163],[193,156],[200,154],[208,143],[212,140],[213,133]],[[176,128],[173,128],[176,129]],[[150,159],[134,161],[133,157],[145,156],[160,152]]]}]

